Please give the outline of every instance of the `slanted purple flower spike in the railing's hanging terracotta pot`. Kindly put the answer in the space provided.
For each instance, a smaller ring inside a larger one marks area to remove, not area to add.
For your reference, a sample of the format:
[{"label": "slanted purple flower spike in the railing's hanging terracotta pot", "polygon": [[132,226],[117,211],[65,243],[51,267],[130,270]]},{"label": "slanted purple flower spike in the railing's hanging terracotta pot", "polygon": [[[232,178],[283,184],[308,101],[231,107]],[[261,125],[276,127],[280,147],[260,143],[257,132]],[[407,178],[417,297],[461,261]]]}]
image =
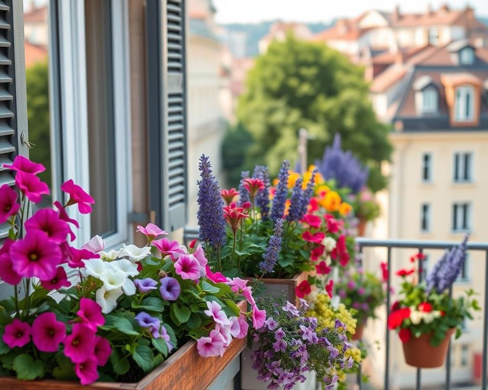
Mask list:
[{"label": "slanted purple flower spike in the railing's hanging terracotta pot", "polygon": [[445,251],[442,257],[426,277],[426,291],[435,288],[438,293],[448,289],[459,276],[466,260],[466,249],[469,235],[466,235],[460,245],[453,246],[449,251]]}]

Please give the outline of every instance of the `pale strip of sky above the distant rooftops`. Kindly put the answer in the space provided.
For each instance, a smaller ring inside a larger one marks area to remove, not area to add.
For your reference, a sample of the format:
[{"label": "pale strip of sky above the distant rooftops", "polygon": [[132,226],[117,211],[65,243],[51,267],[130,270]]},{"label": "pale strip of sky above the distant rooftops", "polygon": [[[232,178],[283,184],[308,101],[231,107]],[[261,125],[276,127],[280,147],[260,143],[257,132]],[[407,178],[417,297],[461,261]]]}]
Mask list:
[{"label": "pale strip of sky above the distant rooftops", "polygon": [[395,4],[400,12],[423,12],[427,4],[433,9],[447,3],[453,9],[469,4],[476,15],[488,17],[488,0],[212,0],[218,23],[256,23],[281,19],[300,22],[330,22],[339,17],[354,17],[369,9],[390,11]]}]

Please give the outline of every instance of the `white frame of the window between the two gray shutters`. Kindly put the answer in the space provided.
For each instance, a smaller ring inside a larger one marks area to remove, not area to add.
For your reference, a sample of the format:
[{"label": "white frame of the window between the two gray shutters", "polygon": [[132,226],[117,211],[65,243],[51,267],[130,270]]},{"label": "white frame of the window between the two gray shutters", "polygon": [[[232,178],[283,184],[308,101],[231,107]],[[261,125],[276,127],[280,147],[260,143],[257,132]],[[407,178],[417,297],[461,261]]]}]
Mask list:
[{"label": "white frame of the window between the two gray shutters", "polygon": [[[111,0],[111,11],[117,230],[104,238],[107,248],[132,240],[133,236],[128,220],[132,210],[132,165],[131,158],[128,158],[131,156],[131,93],[127,0]],[[56,177],[56,170],[53,170],[53,183],[58,185],[73,179],[89,192],[84,1],[58,1],[58,14],[61,107],[51,107],[51,114],[56,110],[62,111],[63,160],[59,161],[56,155],[52,159],[54,164],[62,164],[64,177]],[[56,193],[53,191],[53,194]],[[79,247],[92,237],[90,217],[89,214],[80,214],[76,207],[68,208],[68,213],[80,223],[77,238],[72,243]]]}]

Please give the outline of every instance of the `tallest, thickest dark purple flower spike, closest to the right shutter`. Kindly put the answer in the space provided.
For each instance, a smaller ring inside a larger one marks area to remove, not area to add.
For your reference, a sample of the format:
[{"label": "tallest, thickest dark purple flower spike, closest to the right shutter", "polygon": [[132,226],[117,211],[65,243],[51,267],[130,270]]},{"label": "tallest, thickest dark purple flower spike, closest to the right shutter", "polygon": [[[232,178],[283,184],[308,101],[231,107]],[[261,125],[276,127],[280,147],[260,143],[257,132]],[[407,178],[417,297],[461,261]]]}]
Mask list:
[{"label": "tallest, thickest dark purple flower spike, closest to the right shutter", "polygon": [[224,219],[224,201],[220,196],[219,182],[212,175],[210,161],[207,156],[200,157],[201,180],[198,182],[198,225],[200,241],[217,248],[225,245],[226,223]]}]

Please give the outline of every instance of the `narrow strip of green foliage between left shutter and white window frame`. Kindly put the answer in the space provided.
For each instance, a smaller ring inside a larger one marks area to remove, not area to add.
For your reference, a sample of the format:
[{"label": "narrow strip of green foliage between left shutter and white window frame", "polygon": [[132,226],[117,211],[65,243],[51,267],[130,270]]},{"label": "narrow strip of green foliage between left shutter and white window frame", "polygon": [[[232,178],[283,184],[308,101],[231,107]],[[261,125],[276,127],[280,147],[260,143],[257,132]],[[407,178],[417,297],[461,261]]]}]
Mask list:
[{"label": "narrow strip of green foliage between left shutter and white window frame", "polygon": [[25,70],[29,142],[35,146],[29,157],[46,170],[40,179],[51,186],[51,146],[49,137],[49,75],[47,61]]}]

